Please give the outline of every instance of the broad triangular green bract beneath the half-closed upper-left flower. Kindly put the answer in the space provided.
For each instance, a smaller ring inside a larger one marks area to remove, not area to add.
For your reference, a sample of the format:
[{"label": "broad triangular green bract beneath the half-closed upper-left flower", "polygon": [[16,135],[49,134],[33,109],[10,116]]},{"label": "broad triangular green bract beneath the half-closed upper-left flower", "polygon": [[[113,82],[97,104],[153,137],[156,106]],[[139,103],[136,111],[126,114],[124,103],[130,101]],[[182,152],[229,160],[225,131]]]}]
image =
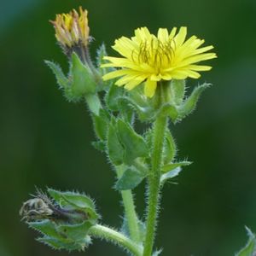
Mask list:
[{"label": "broad triangular green bract beneath the half-closed upper-left flower", "polygon": [[75,53],[71,58],[71,91],[75,98],[96,93],[96,81],[89,67],[85,67]]}]

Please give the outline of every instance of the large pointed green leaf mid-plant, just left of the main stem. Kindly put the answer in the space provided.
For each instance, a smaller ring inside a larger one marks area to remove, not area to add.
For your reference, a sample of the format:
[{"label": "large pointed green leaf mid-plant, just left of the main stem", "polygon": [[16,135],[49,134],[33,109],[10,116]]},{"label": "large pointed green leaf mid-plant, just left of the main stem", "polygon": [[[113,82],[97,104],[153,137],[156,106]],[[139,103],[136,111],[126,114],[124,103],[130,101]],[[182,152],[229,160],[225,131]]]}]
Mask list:
[{"label": "large pointed green leaf mid-plant, just left of the main stem", "polygon": [[118,119],[117,128],[119,134],[119,142],[124,147],[124,163],[131,165],[132,161],[137,157],[146,157],[148,155],[148,147],[142,136],[133,130],[130,124]]}]

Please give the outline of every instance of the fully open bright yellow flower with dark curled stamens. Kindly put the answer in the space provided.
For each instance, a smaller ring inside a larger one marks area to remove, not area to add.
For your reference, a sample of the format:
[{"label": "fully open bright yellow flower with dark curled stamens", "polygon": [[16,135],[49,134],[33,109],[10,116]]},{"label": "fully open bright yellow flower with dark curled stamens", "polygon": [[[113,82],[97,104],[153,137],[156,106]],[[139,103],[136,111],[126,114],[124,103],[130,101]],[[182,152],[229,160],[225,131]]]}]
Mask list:
[{"label": "fully open bright yellow flower with dark curled stamens", "polygon": [[147,27],[135,30],[135,36],[115,40],[113,49],[123,57],[105,56],[110,61],[102,67],[122,67],[103,76],[103,80],[122,77],[115,84],[132,90],[145,82],[144,93],[154,96],[157,82],[171,79],[198,79],[198,71],[207,71],[212,67],[195,65],[200,61],[216,58],[214,53],[205,53],[213,46],[202,47],[204,40],[192,36],[185,40],[187,28],[182,26],[177,32],[174,27],[168,33],[166,28],[160,28],[157,37],[148,31]]}]

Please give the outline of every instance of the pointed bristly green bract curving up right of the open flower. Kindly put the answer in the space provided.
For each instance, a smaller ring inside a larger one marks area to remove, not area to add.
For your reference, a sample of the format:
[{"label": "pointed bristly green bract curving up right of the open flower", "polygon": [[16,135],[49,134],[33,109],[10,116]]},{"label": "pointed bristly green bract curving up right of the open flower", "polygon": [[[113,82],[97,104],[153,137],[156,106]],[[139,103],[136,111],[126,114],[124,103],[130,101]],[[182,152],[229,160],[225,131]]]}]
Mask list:
[{"label": "pointed bristly green bract curving up right of the open flower", "polygon": [[191,95],[178,107],[178,119],[183,119],[195,110],[201,93],[210,87],[211,84],[201,84],[193,90]]}]

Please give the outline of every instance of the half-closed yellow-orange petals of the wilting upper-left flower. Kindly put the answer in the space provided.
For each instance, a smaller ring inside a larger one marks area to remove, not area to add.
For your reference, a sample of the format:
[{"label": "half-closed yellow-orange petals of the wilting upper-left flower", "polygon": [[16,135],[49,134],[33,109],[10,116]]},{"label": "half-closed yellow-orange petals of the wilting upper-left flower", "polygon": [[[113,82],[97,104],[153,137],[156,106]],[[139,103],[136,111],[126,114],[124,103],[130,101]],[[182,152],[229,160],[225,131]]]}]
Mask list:
[{"label": "half-closed yellow-orange petals of the wilting upper-left flower", "polygon": [[87,10],[79,8],[79,14],[73,9],[69,14],[56,15],[51,21],[55,26],[55,37],[64,48],[73,48],[82,44],[86,47],[89,44],[89,32]]}]

